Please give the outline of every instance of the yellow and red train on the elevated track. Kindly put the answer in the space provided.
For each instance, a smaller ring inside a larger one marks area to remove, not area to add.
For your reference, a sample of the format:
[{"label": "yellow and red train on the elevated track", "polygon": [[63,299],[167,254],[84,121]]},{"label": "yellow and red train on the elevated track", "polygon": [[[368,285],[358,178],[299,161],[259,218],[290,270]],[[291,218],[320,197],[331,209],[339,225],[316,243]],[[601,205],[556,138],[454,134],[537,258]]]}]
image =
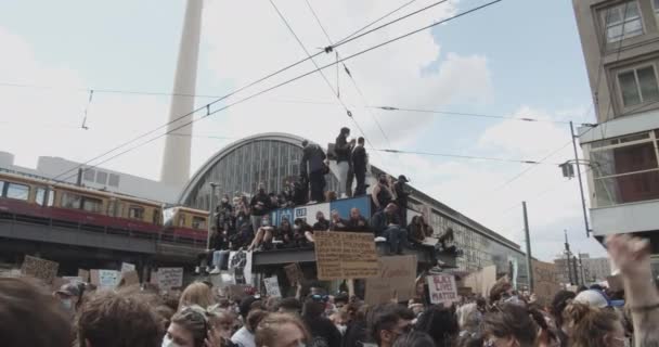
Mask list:
[{"label": "yellow and red train on the elevated track", "polygon": [[0,171],[0,218],[49,220],[205,245],[208,211]]}]

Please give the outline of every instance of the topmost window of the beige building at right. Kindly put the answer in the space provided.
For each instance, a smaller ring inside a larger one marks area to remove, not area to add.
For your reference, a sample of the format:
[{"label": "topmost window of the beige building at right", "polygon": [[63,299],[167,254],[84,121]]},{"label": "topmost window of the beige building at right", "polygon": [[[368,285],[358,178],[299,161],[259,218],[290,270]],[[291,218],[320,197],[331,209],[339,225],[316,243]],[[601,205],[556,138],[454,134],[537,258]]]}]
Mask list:
[{"label": "topmost window of the beige building at right", "polygon": [[606,40],[618,42],[643,34],[643,22],[636,1],[612,7],[605,12]]}]

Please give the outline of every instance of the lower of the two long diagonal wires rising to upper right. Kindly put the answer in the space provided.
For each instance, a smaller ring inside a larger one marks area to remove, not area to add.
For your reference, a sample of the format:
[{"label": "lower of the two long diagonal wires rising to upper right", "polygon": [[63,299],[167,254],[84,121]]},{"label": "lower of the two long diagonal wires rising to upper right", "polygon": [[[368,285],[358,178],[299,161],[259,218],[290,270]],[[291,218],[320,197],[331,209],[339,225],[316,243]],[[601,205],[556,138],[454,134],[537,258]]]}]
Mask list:
[{"label": "lower of the two long diagonal wires rising to upper right", "polygon": [[[470,14],[470,13],[474,13],[474,12],[477,12],[477,11],[480,11],[480,10],[483,10],[483,9],[489,8],[489,7],[491,7],[491,5],[494,5],[494,4],[496,4],[496,3],[501,2],[501,1],[503,1],[503,0],[493,0],[493,1],[490,1],[490,2],[484,3],[484,4],[482,4],[482,5],[479,5],[479,7],[476,7],[476,8],[470,9],[470,10],[467,10],[467,11],[461,12],[461,13],[458,13],[458,14],[455,14],[455,15],[453,15],[453,16],[451,16],[451,17],[444,18],[444,20],[442,20],[442,21],[435,22],[435,23],[432,23],[432,24],[430,24],[430,25],[426,25],[426,26],[424,26],[424,27],[422,27],[422,28],[419,28],[419,29],[416,29],[416,30],[409,31],[409,33],[406,33],[406,34],[400,35],[400,36],[395,37],[395,38],[392,38],[392,39],[389,39],[389,40],[387,40],[387,41],[380,42],[380,43],[378,43],[378,44],[376,44],[376,46],[372,46],[372,47],[370,47],[370,48],[367,48],[367,49],[364,49],[364,50],[362,50],[362,51],[359,51],[359,52],[357,52],[357,53],[353,53],[353,54],[351,54],[351,55],[349,55],[349,56],[343,57],[343,59],[338,60],[338,61],[337,61],[337,62],[335,62],[335,63],[326,64],[326,65],[324,65],[324,66],[321,66],[320,68],[312,69],[312,70],[310,70],[310,72],[307,72],[307,73],[305,73],[305,74],[298,75],[298,76],[296,76],[296,77],[294,77],[294,78],[290,78],[290,79],[288,79],[288,80],[285,80],[285,81],[283,81],[283,82],[280,82],[280,83],[275,85],[275,86],[272,86],[272,87],[270,87],[270,88],[267,88],[267,89],[264,89],[264,90],[261,90],[261,91],[259,91],[259,92],[257,92],[257,93],[254,93],[254,94],[251,94],[251,95],[249,95],[249,97],[245,97],[245,98],[243,98],[243,99],[241,99],[241,100],[238,100],[238,101],[236,101],[236,102],[233,102],[233,103],[227,104],[227,105],[224,105],[224,106],[222,106],[222,107],[220,107],[220,108],[218,108],[218,110],[215,110],[215,111],[212,111],[212,112],[210,111],[210,106],[205,106],[205,107],[203,107],[203,108],[205,108],[205,110],[207,111],[207,112],[206,112],[206,115],[204,115],[204,116],[202,116],[202,117],[199,117],[199,118],[197,118],[197,119],[190,120],[190,121],[188,121],[188,123],[185,123],[185,124],[183,124],[183,125],[181,125],[181,126],[179,126],[179,127],[177,127],[177,128],[175,128],[175,129],[168,130],[167,132],[165,132],[165,133],[163,133],[163,134],[160,134],[160,136],[158,136],[158,137],[156,137],[156,138],[153,138],[153,139],[151,139],[151,140],[148,140],[148,141],[146,141],[146,142],[143,142],[142,144],[140,144],[140,145],[138,145],[138,146],[131,147],[131,149],[129,149],[129,150],[127,150],[127,151],[124,151],[124,152],[121,152],[121,153],[117,154],[117,155],[114,155],[114,156],[109,157],[108,159],[105,159],[105,160],[103,160],[103,162],[101,162],[101,163],[99,163],[99,164],[93,165],[92,167],[96,167],[96,166],[99,166],[99,165],[101,165],[101,164],[107,163],[108,160],[111,160],[111,159],[113,159],[113,158],[116,158],[116,157],[118,157],[119,155],[126,154],[126,153],[128,153],[128,152],[130,152],[130,151],[133,151],[133,150],[135,150],[135,149],[138,149],[138,147],[140,147],[140,146],[142,146],[142,145],[145,145],[145,144],[147,144],[147,143],[151,143],[151,142],[153,142],[153,141],[155,141],[155,140],[157,140],[157,139],[159,139],[159,138],[161,138],[161,137],[164,137],[164,136],[166,136],[166,134],[168,134],[168,133],[170,133],[170,132],[173,132],[173,131],[179,130],[179,129],[181,129],[181,128],[183,128],[183,127],[186,127],[186,126],[189,126],[189,125],[191,125],[191,124],[193,124],[193,123],[195,123],[195,121],[198,121],[198,120],[205,119],[205,118],[207,118],[207,117],[209,117],[209,116],[211,116],[211,115],[214,115],[214,114],[217,114],[217,113],[219,113],[219,112],[222,112],[222,111],[224,111],[224,110],[227,110],[227,108],[229,108],[229,107],[233,107],[233,106],[235,106],[235,105],[237,105],[237,104],[241,104],[241,103],[243,103],[243,102],[246,102],[246,101],[248,101],[248,100],[251,100],[251,99],[254,99],[254,98],[257,98],[257,97],[259,97],[259,95],[261,95],[261,94],[264,94],[264,93],[267,93],[267,92],[269,92],[269,91],[272,91],[272,90],[274,90],[274,89],[276,89],[276,88],[281,88],[281,87],[283,87],[283,86],[285,86],[285,85],[288,85],[288,83],[292,83],[292,82],[294,82],[294,81],[296,81],[296,80],[298,80],[298,79],[305,78],[305,77],[307,77],[307,76],[309,76],[309,75],[312,75],[312,74],[316,73],[318,70],[321,70],[321,69],[327,68],[327,67],[330,67],[330,66],[333,66],[334,64],[343,63],[343,62],[348,61],[348,60],[350,60],[350,59],[353,59],[353,57],[357,57],[357,56],[359,56],[359,55],[365,54],[365,53],[367,53],[367,52],[371,52],[371,51],[373,51],[373,50],[376,50],[376,49],[382,48],[382,47],[384,47],[384,46],[387,46],[387,44],[389,44],[389,43],[396,42],[396,41],[398,41],[398,40],[401,40],[401,39],[403,39],[403,38],[406,38],[406,37],[409,37],[409,36],[412,36],[412,35],[414,35],[414,34],[417,34],[417,33],[419,33],[419,31],[423,31],[423,30],[429,29],[429,28],[431,28],[431,27],[435,27],[435,26],[438,26],[438,25],[441,25],[441,24],[444,24],[444,23],[451,22],[451,21],[453,21],[453,20],[456,20],[456,18],[458,18],[458,17],[465,16],[465,15],[467,15],[467,14]],[[359,125],[358,125],[358,128],[359,128]],[[360,129],[360,131],[361,131],[361,129]],[[362,131],[362,133],[363,133],[363,131]],[[133,142],[134,142],[134,141],[133,141]],[[131,143],[132,143],[132,142],[131,142]],[[86,163],[86,164],[80,164],[80,165],[78,165],[78,166],[77,166],[75,169],[80,168],[80,167],[82,167],[82,166],[85,166],[85,165],[87,165],[87,164],[88,164],[88,163]],[[73,170],[75,170],[75,169],[73,169]],[[67,172],[70,172],[70,171],[73,171],[73,170],[68,170]],[[60,176],[62,176],[62,175],[60,175]],[[60,177],[60,176],[57,176],[57,177]],[[74,176],[70,176],[70,177],[75,177],[75,175],[74,175]],[[69,178],[70,178],[70,177],[69,177]]]}]

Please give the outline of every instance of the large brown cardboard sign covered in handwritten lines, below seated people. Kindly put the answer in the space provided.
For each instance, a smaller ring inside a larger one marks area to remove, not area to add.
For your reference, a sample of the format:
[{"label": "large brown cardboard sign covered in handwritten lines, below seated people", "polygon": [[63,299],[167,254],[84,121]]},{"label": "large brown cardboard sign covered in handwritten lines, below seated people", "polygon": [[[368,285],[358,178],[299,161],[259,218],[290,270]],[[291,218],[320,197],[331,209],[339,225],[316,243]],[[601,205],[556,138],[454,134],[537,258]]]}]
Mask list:
[{"label": "large brown cardboard sign covered in handwritten lines, below seated people", "polygon": [[313,237],[319,280],[377,277],[379,264],[373,234],[316,231]]}]

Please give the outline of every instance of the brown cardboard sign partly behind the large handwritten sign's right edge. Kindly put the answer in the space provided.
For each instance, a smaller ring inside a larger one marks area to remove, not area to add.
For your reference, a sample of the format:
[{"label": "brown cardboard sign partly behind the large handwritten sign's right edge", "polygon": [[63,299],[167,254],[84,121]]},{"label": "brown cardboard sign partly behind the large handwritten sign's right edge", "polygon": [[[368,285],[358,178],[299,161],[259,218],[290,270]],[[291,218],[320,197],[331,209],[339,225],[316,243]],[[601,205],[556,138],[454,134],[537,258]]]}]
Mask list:
[{"label": "brown cardboard sign partly behind the large handwritten sign's right edge", "polygon": [[383,257],[376,278],[366,280],[367,305],[389,303],[398,296],[399,301],[414,297],[416,290],[416,256]]}]

